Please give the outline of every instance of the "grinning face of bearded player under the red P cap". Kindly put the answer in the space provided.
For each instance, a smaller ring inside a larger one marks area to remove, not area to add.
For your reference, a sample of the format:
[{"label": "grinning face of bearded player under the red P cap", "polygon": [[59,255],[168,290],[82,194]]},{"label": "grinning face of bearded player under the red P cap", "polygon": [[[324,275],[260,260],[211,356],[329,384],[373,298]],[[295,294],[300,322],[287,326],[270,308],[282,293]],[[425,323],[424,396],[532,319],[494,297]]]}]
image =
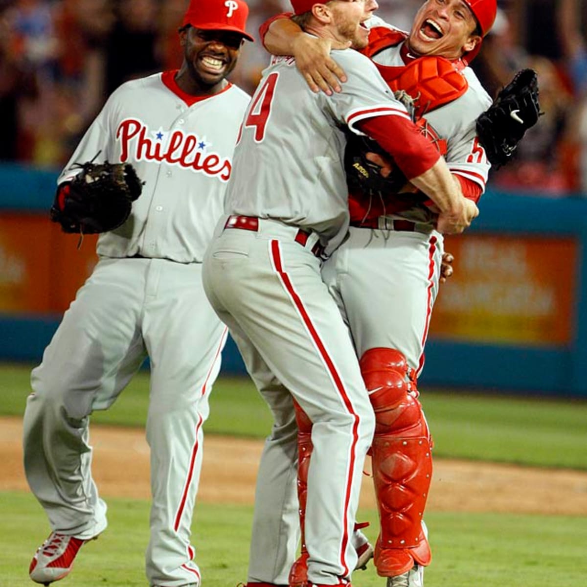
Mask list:
[{"label": "grinning face of bearded player under the red P cap", "polygon": [[235,68],[242,35],[232,31],[204,31],[187,26],[180,32],[184,63],[176,81],[190,94],[220,92],[224,78]]}]

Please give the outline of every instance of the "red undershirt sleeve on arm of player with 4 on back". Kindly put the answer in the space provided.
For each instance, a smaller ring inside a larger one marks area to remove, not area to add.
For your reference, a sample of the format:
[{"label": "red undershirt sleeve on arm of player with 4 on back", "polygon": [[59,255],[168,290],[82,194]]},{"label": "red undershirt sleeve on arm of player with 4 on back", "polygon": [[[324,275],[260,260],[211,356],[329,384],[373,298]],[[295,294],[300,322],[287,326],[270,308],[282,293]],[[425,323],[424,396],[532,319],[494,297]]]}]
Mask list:
[{"label": "red undershirt sleeve on arm of player with 4 on back", "polygon": [[440,159],[430,140],[402,116],[375,116],[360,120],[355,126],[375,139],[409,180],[421,176]]}]

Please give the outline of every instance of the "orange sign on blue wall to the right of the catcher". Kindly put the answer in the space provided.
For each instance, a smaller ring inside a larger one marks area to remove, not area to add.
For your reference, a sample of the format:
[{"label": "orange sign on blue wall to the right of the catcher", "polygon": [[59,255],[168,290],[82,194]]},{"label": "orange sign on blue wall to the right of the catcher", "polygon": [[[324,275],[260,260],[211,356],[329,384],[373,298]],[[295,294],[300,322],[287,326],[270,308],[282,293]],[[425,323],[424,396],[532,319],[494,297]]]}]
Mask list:
[{"label": "orange sign on blue wall to the right of the catcher", "polygon": [[573,337],[578,245],[572,238],[447,238],[454,276],[440,286],[430,338],[568,345]]}]

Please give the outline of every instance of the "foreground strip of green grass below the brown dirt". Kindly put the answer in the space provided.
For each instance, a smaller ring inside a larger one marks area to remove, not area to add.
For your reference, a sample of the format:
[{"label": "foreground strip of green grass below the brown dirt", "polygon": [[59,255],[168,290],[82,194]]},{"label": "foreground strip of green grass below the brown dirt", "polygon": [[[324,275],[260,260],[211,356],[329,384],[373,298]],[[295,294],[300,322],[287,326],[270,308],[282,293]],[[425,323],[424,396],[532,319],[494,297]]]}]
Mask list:
[{"label": "foreground strip of green grass below the brown dirt", "polygon": [[[0,586],[31,587],[28,564],[46,521],[34,498],[4,493]],[[205,587],[235,587],[245,579],[251,509],[203,504],[196,508],[193,543]],[[84,546],[75,570],[56,585],[146,587],[146,501],[109,500],[110,525]],[[375,524],[374,511],[360,519]],[[433,564],[426,587],[582,587],[587,577],[587,519],[506,514],[427,515],[434,528]],[[373,565],[353,576],[355,587],[384,587]]]}]

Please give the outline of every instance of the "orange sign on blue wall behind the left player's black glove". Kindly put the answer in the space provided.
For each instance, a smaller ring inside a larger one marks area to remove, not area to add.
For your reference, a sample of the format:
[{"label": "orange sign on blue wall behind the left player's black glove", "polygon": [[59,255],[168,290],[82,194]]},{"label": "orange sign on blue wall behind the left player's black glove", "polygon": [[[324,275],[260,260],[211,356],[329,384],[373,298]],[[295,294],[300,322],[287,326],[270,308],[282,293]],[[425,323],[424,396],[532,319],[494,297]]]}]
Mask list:
[{"label": "orange sign on blue wall behind the left player's black glove", "polygon": [[63,312],[96,264],[96,238],[64,234],[46,214],[0,214],[0,312]]}]

